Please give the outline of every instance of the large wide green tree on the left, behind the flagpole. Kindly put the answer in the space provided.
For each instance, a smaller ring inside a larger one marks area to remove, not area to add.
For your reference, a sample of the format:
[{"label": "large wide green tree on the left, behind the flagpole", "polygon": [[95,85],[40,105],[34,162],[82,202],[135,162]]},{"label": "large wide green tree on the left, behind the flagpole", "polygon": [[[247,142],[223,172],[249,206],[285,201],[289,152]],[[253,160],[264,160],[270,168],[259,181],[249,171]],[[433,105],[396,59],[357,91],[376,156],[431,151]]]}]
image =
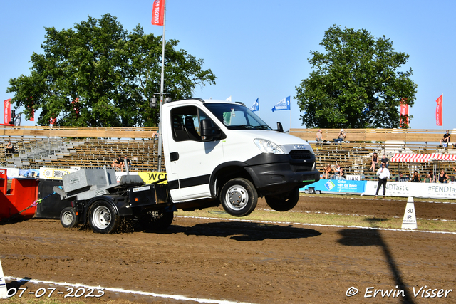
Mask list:
[{"label": "large wide green tree on the left, behind the flagpole", "polygon": [[[31,74],[9,80],[11,103],[24,106],[26,116],[41,109],[38,125],[154,127],[158,109],[149,100],[160,92],[162,38],[141,26],[125,31],[105,14],[74,28],[46,28],[43,53],[31,56]],[[173,100],[192,97],[197,85],[215,84],[202,59],[165,43],[164,91]]]}]

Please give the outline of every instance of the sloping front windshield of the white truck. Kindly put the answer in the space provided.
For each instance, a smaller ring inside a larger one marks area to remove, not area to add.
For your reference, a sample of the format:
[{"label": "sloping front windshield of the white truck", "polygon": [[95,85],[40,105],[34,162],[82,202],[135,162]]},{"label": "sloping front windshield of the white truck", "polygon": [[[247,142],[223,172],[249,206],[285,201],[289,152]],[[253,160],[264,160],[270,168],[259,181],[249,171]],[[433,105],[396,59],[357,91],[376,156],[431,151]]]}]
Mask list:
[{"label": "sloping front windshield of the white truck", "polygon": [[251,110],[233,103],[204,103],[204,106],[215,115],[228,129],[272,130],[266,122]]}]

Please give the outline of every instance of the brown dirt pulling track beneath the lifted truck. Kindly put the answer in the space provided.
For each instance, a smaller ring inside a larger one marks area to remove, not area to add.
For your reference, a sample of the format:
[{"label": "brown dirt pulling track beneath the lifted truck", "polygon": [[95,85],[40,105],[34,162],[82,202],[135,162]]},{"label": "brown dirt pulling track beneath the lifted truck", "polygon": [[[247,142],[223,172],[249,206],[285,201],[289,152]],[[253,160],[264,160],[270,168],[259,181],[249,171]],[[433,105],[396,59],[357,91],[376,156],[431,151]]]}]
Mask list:
[{"label": "brown dirt pulling track beneath the lifted truck", "polygon": [[[257,208],[267,206],[260,200]],[[294,211],[381,218],[402,216],[404,208],[405,201],[316,196],[301,198]],[[418,218],[456,218],[456,204],[415,202],[415,209]],[[64,229],[59,221],[31,219],[0,223],[0,258],[5,276],[190,298],[249,303],[456,303],[455,239],[455,234],[184,217],[175,218],[162,233],[101,235],[90,229]],[[8,287],[19,285],[13,281]],[[24,286],[32,291],[40,287]],[[347,297],[352,286],[359,292]],[[437,289],[435,295],[446,290],[447,296],[423,298],[423,289],[415,296],[413,288],[417,293],[424,286]],[[380,289],[395,293],[365,298]],[[404,290],[405,296],[398,290]],[[398,298],[393,297],[396,293]],[[100,299],[195,303],[124,293],[106,293]]]}]

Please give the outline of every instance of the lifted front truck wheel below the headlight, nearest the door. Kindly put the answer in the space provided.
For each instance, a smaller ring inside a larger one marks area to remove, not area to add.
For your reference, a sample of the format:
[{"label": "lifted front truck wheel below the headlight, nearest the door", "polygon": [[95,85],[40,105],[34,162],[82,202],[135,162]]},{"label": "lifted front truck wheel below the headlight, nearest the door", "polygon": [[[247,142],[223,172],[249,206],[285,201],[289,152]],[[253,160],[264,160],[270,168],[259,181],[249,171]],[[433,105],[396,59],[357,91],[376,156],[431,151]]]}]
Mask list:
[{"label": "lifted front truck wheel below the headlight, nearest the door", "polygon": [[257,206],[257,189],[248,179],[231,179],[222,188],[220,202],[228,214],[247,216]]}]

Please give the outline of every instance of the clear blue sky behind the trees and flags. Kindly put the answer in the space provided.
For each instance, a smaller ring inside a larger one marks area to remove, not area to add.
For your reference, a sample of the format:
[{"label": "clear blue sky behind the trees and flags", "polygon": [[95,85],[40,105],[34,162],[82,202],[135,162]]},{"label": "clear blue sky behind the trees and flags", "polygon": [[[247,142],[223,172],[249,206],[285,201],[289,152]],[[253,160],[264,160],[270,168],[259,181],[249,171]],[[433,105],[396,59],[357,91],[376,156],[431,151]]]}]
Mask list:
[{"label": "clear blue sky behind the trees and flags", "polygon": [[[110,13],[132,31],[162,35],[152,26],[152,0],[16,0],[1,5],[0,99],[9,79],[29,75],[33,52],[41,53],[45,27],[73,28],[88,15],[99,19]],[[204,60],[217,76],[216,85],[195,90],[195,97],[242,101],[250,106],[259,97],[259,116],[271,127],[302,127],[294,100],[296,85],[308,78],[310,51],[333,24],[361,29],[393,41],[395,51],[410,55],[403,67],[413,69],[418,85],[410,108],[414,129],[456,128],[455,49],[456,1],[305,1],[305,0],[167,0],[166,39]],[[435,124],[435,100],[443,94],[443,126]],[[272,112],[291,95],[291,111]],[[3,108],[3,107],[2,107]],[[3,114],[3,110],[1,110]],[[3,122],[3,121],[1,121]],[[22,125],[33,125],[25,122]]]}]

